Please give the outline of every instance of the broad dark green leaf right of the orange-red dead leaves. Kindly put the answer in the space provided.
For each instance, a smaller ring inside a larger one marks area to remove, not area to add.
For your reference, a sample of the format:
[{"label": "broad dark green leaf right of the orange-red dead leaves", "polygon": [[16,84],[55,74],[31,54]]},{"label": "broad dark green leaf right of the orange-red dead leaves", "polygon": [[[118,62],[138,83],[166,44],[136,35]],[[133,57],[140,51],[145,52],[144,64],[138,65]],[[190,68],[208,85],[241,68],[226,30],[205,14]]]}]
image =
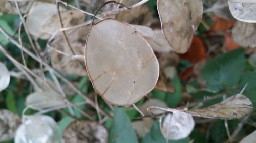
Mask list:
[{"label": "broad dark green leaf right of the orange-red dead leaves", "polygon": [[222,54],[209,61],[202,75],[206,85],[212,90],[236,85],[244,70],[244,50],[239,48]]}]

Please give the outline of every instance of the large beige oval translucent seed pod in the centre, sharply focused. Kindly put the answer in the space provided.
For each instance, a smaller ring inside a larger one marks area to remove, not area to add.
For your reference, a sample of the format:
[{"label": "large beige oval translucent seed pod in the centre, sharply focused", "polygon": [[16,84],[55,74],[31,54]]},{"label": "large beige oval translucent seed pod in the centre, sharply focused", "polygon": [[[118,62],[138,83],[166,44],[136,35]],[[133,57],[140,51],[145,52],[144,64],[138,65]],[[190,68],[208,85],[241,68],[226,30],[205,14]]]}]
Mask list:
[{"label": "large beige oval translucent seed pod in the centre, sharply focused", "polygon": [[150,92],[159,76],[157,58],[132,26],[105,19],[86,41],[86,68],[95,91],[115,105],[131,105]]}]

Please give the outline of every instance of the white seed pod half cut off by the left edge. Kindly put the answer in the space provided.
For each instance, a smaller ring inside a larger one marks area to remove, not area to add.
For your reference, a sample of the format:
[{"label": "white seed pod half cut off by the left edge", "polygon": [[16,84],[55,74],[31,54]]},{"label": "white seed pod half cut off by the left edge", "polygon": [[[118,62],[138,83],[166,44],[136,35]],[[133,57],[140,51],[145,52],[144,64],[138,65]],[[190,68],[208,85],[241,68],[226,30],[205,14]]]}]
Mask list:
[{"label": "white seed pod half cut off by the left edge", "polygon": [[10,72],[6,68],[5,64],[0,62],[0,92],[8,87],[10,79]]}]

